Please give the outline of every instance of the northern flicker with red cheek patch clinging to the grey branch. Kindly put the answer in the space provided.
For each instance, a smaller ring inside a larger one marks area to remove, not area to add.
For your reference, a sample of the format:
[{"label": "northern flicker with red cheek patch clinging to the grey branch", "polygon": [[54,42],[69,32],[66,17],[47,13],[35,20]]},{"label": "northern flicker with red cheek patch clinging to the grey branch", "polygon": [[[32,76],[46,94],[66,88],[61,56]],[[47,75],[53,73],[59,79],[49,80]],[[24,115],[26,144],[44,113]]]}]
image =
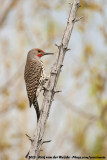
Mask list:
[{"label": "northern flicker with red cheek patch clinging to the grey branch", "polygon": [[24,72],[24,79],[26,83],[26,90],[29,99],[30,107],[33,104],[36,114],[37,121],[40,117],[39,105],[37,101],[37,89],[45,84],[47,76],[41,57],[44,55],[51,55],[53,53],[46,53],[41,49],[32,49],[28,52],[27,61]]}]

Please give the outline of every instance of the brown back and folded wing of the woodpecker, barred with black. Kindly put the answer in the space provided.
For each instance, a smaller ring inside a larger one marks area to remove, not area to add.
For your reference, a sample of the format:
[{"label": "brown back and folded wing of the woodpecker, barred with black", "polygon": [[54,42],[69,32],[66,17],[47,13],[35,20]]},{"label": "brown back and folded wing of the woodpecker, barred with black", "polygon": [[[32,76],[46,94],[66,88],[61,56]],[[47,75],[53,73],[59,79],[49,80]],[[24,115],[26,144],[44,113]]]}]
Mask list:
[{"label": "brown back and folded wing of the woodpecker, barred with black", "polygon": [[36,96],[36,91],[39,86],[39,80],[41,77],[41,62],[37,60],[27,59],[24,79],[26,83],[26,90],[29,98],[30,107]]}]

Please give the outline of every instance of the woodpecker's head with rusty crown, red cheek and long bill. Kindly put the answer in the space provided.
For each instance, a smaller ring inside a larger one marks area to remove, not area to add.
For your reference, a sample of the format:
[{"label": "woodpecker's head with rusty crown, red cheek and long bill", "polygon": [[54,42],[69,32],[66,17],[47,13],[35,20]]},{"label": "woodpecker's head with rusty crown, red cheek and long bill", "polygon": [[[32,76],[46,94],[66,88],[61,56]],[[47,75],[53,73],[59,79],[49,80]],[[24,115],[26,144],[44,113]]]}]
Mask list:
[{"label": "woodpecker's head with rusty crown, red cheek and long bill", "polygon": [[42,57],[44,55],[52,55],[53,53],[44,52],[43,50],[39,48],[35,48],[29,51],[29,54],[36,55],[37,57]]}]

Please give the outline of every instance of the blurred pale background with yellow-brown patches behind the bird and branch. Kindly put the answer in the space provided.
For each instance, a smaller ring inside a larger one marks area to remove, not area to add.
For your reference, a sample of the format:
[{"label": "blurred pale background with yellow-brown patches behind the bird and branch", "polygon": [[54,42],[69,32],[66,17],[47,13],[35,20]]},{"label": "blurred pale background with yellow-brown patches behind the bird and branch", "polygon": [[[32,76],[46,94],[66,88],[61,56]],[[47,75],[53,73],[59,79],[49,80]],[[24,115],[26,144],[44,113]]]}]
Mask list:
[{"label": "blurred pale background with yellow-brown patches behind the bird and branch", "polygon": [[[24,66],[32,48],[46,73],[54,64],[69,15],[70,0],[0,0],[0,160],[24,160],[25,134],[36,128],[29,108]],[[64,67],[47,122],[41,155],[107,156],[107,1],[81,0]],[[42,95],[39,104],[42,103]],[[97,160],[94,159],[94,160]]]}]

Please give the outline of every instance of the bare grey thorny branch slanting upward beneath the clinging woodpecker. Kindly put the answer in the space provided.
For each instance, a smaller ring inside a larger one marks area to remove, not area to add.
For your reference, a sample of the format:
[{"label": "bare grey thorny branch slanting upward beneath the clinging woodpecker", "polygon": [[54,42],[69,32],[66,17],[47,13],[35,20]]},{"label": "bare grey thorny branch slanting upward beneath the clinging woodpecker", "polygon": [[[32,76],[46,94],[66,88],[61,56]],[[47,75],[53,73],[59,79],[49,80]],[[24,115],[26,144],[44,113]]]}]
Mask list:
[{"label": "bare grey thorny branch slanting upward beneath the clinging woodpecker", "polygon": [[43,135],[46,127],[46,122],[49,116],[50,107],[53,101],[53,97],[55,95],[55,88],[59,78],[59,74],[61,72],[61,68],[63,66],[63,60],[65,53],[69,50],[68,43],[70,40],[70,36],[72,33],[72,29],[74,23],[76,22],[76,13],[78,8],[80,7],[80,0],[74,0],[71,5],[70,14],[67,21],[67,26],[62,38],[61,45],[58,46],[58,57],[56,63],[51,69],[50,79],[47,85],[47,89],[44,93],[44,99],[41,107],[40,119],[37,124],[37,128],[35,130],[35,135],[33,137],[33,141],[31,142],[31,148],[26,155],[26,158],[29,160],[38,160],[38,156],[40,154],[40,149],[43,144]]}]

